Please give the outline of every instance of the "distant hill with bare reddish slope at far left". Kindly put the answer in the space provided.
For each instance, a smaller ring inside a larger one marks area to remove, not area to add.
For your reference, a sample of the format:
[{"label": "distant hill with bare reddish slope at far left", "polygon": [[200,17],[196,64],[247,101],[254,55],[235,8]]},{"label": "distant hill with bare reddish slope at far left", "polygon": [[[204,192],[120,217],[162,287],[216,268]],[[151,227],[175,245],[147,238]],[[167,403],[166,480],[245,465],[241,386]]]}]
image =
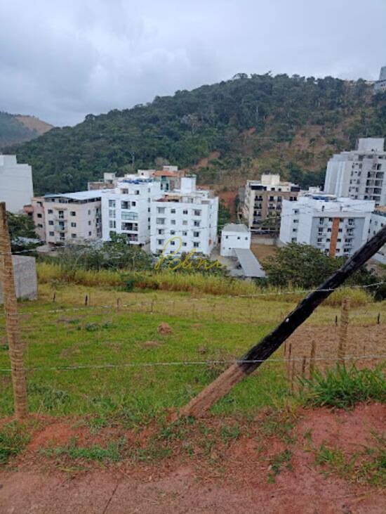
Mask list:
[{"label": "distant hill with bare reddish slope at far left", "polygon": [[34,116],[13,115],[0,111],[0,148],[30,141],[51,128],[52,125]]}]

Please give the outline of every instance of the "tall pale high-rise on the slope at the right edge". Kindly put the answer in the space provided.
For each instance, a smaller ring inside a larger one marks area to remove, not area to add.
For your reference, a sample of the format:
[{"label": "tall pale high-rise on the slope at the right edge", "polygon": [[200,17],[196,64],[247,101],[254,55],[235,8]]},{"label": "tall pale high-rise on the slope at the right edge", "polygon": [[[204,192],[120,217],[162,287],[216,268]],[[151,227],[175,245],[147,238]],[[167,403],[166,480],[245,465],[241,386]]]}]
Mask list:
[{"label": "tall pale high-rise on the slope at the right edge", "polygon": [[333,155],[328,161],[325,193],[386,204],[386,152],[383,138],[359,139],[357,150]]}]

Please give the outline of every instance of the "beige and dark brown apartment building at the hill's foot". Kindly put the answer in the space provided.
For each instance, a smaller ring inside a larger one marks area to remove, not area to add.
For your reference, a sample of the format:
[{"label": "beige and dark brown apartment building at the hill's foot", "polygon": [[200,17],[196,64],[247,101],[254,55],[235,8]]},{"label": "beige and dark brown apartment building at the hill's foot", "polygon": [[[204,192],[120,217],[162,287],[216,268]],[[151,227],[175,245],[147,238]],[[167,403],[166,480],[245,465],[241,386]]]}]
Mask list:
[{"label": "beige and dark brown apartment building at the hill's foot", "polygon": [[260,180],[246,181],[243,217],[251,231],[263,229],[267,219],[278,219],[284,200],[295,201],[300,187],[280,180],[279,174],[262,174]]}]

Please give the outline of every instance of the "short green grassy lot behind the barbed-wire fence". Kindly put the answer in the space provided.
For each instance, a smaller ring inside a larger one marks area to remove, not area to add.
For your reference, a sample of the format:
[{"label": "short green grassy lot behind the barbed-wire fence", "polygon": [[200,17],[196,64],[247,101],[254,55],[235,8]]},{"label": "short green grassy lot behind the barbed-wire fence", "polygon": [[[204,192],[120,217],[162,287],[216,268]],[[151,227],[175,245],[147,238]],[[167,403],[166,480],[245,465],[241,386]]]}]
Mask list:
[{"label": "short green grassy lot behind the barbed-wire fence", "polygon": [[[53,295],[55,293],[55,302]],[[87,295],[87,303],[85,300]],[[79,285],[40,286],[39,300],[20,304],[30,408],[39,413],[93,415],[93,423],[119,418],[145,423],[185,404],[210,383],[227,361],[243,354],[295,303],[267,297],[189,293],[123,293]],[[352,323],[374,324],[385,303],[352,311]],[[321,307],[310,325],[331,325],[339,309]],[[160,323],[172,333],[158,333]],[[11,376],[0,318],[0,416],[12,413]],[[253,413],[281,406],[290,393],[283,353],[244,380],[213,408],[216,413]],[[191,364],[194,363],[194,364]]]}]

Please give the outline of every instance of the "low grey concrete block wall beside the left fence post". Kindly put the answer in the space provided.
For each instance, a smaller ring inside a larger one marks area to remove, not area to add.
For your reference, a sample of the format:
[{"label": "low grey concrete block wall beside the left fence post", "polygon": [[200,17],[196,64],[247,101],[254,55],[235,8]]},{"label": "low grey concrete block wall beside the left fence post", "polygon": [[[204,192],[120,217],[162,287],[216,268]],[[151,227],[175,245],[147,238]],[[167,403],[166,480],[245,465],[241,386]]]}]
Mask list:
[{"label": "low grey concrete block wall beside the left fence post", "polygon": [[[24,300],[36,300],[37,277],[34,257],[13,255],[13,274],[15,277],[15,293]],[[3,303],[3,291],[0,285],[0,304]]]}]

